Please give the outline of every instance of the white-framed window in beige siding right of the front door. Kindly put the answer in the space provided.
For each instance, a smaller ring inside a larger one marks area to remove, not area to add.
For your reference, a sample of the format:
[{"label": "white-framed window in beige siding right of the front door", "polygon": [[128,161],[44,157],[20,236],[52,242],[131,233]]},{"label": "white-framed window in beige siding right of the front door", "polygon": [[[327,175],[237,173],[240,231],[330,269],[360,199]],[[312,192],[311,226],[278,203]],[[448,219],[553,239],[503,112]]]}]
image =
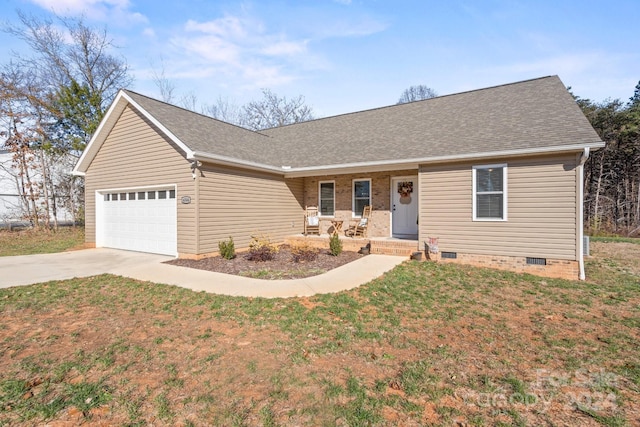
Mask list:
[{"label": "white-framed window in beige siding right of the front door", "polygon": [[506,164],[473,167],[473,219],[506,221]]}]

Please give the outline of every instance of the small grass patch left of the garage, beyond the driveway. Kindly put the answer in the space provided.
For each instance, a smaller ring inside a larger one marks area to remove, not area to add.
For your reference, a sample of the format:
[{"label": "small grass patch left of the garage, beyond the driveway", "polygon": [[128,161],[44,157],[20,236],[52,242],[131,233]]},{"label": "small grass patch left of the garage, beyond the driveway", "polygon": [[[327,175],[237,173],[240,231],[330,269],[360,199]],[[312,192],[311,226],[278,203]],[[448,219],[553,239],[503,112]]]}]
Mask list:
[{"label": "small grass patch left of the garage, beyond the driveway", "polygon": [[54,230],[0,230],[0,256],[63,252],[84,243],[84,227]]}]

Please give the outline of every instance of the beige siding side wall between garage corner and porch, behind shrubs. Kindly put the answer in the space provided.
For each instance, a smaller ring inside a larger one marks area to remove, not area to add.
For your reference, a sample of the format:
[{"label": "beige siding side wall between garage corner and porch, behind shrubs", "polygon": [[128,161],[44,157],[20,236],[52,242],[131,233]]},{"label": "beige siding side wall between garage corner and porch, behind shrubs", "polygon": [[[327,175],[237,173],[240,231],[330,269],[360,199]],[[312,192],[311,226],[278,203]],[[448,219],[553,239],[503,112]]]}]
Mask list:
[{"label": "beige siding side wall between garage corner and porch, behind shrubs", "polygon": [[304,180],[205,164],[198,178],[201,254],[233,237],[237,248],[252,235],[274,242],[301,233]]}]

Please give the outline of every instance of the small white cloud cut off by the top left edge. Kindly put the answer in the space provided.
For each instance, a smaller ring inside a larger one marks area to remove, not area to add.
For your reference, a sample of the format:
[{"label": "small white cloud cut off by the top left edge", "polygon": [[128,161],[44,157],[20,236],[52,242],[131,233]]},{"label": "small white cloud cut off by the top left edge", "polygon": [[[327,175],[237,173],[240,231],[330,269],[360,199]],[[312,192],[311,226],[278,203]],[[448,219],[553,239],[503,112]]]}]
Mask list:
[{"label": "small white cloud cut off by the top left edge", "polygon": [[30,0],[43,9],[63,16],[84,15],[88,19],[122,24],[146,23],[141,13],[131,11],[129,0]]}]

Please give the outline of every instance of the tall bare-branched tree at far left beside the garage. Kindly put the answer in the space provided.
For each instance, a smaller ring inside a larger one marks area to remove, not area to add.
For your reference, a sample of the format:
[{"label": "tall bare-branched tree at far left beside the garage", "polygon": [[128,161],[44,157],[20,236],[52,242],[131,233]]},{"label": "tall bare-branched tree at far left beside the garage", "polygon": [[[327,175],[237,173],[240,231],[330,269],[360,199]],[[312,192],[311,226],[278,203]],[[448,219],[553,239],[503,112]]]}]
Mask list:
[{"label": "tall bare-branched tree at far left beside the garage", "polygon": [[[14,52],[0,70],[0,93],[6,101],[2,114],[11,111],[19,118],[6,123],[4,132],[5,138],[20,139],[36,153],[48,219],[57,209],[56,192],[74,191],[78,194],[60,197],[82,200],[77,191],[82,184],[75,182],[79,178],[52,167],[62,163],[52,156],[79,156],[118,89],[128,86],[131,77],[124,59],[114,55],[106,30],[90,28],[82,18],[54,21],[22,12],[18,16],[17,24],[2,30],[29,49]],[[74,182],[60,185],[63,181]]]}]

